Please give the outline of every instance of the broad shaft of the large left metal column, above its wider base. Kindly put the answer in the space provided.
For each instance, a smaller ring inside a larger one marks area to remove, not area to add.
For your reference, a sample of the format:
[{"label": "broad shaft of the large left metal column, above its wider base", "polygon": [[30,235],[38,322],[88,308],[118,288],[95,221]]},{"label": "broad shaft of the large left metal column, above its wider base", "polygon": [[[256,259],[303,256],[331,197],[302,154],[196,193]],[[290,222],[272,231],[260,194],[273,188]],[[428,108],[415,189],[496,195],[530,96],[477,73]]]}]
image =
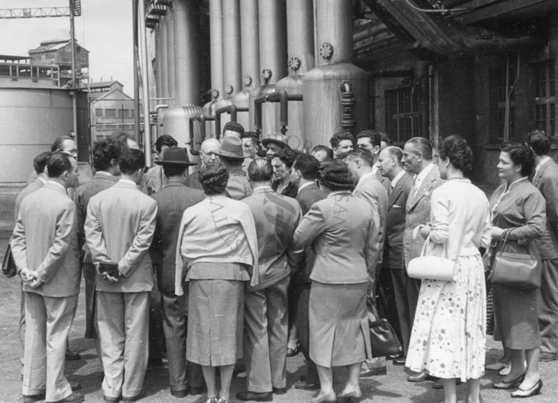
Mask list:
[{"label": "broad shaft of the large left metal column, above its wider base", "polygon": [[174,75],[177,106],[199,105],[199,9],[196,0],[174,0]]}]

